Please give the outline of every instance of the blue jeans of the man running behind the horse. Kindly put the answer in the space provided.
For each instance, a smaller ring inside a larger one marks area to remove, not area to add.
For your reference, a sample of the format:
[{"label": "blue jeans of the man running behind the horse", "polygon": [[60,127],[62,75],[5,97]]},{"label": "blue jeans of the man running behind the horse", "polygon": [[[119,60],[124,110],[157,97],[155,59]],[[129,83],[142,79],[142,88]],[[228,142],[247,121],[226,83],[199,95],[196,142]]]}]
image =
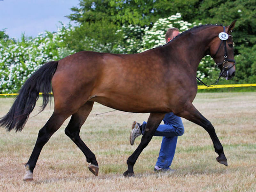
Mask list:
[{"label": "blue jeans of the man running behind the horse", "polygon": [[[174,157],[178,136],[183,135],[184,126],[181,118],[173,113],[164,116],[164,124],[157,127],[154,136],[163,136],[159,157],[156,165],[162,169],[170,169]],[[144,133],[146,122],[143,122],[142,134]]]}]

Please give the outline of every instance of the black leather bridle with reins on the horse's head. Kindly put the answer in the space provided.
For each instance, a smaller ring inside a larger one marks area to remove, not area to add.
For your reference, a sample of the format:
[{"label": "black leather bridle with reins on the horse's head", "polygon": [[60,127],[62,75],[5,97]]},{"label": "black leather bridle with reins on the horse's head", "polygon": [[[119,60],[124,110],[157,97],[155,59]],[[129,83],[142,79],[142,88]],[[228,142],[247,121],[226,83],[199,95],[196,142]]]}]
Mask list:
[{"label": "black leather bridle with reins on the horse's head", "polygon": [[[225,30],[225,26],[223,26],[223,32],[226,33],[226,30]],[[232,35],[228,35],[230,37],[233,37]],[[227,38],[228,39],[228,38]],[[214,86],[215,84],[217,84],[220,80],[220,77],[223,75],[223,73],[225,73],[226,71],[228,71],[230,68],[232,68],[234,65],[236,65],[236,60],[233,60],[233,59],[227,59],[228,58],[228,52],[227,52],[227,46],[226,46],[226,40],[223,40],[221,39],[221,42],[220,42],[220,46],[219,48],[217,49],[216,53],[213,55],[213,57],[215,57],[217,55],[217,53],[219,52],[220,50],[220,47],[223,43],[223,46],[224,46],[224,61],[222,63],[216,63],[217,66],[220,68],[222,66],[222,70],[220,72],[220,76],[219,78],[213,83],[213,84],[210,84],[210,85],[206,85],[203,81],[201,81],[198,77],[196,77],[197,80],[199,80],[202,84],[204,84],[205,86],[207,87],[212,87]],[[233,65],[231,67],[228,67],[228,65],[226,66],[225,64],[228,63],[228,62],[232,62]],[[212,85],[212,86],[211,86]]]}]

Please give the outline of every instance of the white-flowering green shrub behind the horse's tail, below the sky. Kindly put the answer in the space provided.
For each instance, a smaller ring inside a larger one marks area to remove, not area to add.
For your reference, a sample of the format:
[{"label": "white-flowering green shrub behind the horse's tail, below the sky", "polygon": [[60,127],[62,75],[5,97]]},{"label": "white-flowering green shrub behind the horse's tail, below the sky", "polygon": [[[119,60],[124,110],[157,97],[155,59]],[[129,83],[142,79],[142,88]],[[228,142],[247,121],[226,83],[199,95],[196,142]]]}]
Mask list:
[{"label": "white-flowering green shrub behind the horse's tail, below the sky", "polygon": [[0,93],[17,92],[25,80],[40,66],[51,60],[59,60],[69,54],[63,41],[65,26],[57,33],[44,32],[33,39],[25,36],[0,40]]}]

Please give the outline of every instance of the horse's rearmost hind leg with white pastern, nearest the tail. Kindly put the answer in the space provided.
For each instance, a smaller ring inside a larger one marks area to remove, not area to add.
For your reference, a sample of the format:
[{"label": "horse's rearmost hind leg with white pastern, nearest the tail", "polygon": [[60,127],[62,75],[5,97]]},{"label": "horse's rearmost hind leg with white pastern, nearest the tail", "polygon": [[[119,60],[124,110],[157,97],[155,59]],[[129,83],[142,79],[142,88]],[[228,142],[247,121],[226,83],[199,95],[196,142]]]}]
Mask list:
[{"label": "horse's rearmost hind leg with white pastern, nearest the tail", "polygon": [[63,124],[67,117],[68,115],[65,116],[53,112],[52,116],[44,125],[44,127],[40,129],[32,154],[28,160],[28,163],[25,164],[26,174],[23,180],[33,180],[33,170],[36,166],[36,162],[42,148],[44,147],[45,143],[47,143],[47,141],[50,139],[52,134],[60,128],[61,124]]}]

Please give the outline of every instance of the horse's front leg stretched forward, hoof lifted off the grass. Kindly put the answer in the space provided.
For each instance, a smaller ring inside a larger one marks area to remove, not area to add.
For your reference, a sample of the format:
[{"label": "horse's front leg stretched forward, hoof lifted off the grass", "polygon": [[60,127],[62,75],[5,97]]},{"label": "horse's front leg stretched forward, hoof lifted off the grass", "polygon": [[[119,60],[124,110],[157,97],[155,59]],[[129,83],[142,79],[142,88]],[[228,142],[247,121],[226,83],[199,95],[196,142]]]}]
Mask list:
[{"label": "horse's front leg stretched forward, hoof lifted off the grass", "polygon": [[196,123],[200,126],[202,126],[210,135],[212,142],[213,142],[213,146],[215,149],[215,152],[218,153],[218,157],[216,158],[216,160],[221,163],[224,164],[226,166],[228,166],[227,163],[227,158],[223,152],[223,147],[220,143],[220,140],[218,139],[214,127],[212,126],[211,122],[208,121],[195,107],[192,103],[189,103],[188,105],[186,105],[186,107],[184,108],[184,110],[179,113],[176,114],[180,117],[184,117],[187,120]]}]

